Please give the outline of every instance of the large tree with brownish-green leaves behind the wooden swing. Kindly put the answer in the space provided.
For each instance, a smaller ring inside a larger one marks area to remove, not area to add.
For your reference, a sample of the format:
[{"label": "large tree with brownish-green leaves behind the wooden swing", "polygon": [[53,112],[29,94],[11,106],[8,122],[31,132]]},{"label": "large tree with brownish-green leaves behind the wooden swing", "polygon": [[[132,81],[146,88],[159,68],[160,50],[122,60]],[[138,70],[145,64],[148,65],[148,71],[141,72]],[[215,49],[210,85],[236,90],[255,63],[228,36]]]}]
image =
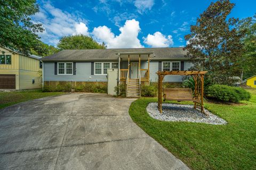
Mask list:
[{"label": "large tree with brownish-green leaves behind the wooden swing", "polygon": [[238,19],[227,19],[234,5],[228,0],[211,3],[185,36],[185,49],[194,62],[193,69],[208,71],[206,79],[213,84],[232,84],[233,77],[241,73],[244,31],[234,28]]}]

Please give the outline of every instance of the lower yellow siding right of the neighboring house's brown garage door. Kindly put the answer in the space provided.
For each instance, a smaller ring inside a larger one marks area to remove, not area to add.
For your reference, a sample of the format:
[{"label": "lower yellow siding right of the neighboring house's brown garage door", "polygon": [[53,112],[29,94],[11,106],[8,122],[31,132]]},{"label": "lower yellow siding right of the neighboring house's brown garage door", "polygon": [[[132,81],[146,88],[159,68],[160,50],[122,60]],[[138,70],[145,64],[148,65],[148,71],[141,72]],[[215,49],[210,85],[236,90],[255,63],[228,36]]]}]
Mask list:
[{"label": "lower yellow siding right of the neighboring house's brown garage door", "polygon": [[[32,83],[35,79],[35,83]],[[36,71],[20,70],[20,90],[22,89],[39,89],[42,88],[42,79]]]}]

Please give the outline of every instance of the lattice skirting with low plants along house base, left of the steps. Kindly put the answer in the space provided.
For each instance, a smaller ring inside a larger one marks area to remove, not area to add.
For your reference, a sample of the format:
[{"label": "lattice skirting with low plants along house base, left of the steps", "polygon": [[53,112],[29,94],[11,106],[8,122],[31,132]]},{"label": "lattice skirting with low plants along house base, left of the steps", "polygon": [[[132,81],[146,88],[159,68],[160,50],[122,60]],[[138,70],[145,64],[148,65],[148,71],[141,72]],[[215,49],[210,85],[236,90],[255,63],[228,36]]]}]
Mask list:
[{"label": "lattice skirting with low plants along house base, left of the steps", "polygon": [[107,93],[108,82],[44,81],[44,91],[103,92]]}]

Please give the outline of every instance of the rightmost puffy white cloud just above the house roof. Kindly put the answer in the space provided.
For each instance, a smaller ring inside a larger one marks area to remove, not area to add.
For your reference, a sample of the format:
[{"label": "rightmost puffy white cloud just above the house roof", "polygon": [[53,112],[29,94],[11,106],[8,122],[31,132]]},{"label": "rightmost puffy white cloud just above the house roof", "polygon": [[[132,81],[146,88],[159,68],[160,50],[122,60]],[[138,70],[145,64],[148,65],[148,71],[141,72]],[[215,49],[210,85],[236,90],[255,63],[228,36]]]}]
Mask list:
[{"label": "rightmost puffy white cloud just above the house roof", "polygon": [[151,47],[169,47],[173,45],[172,36],[165,36],[161,32],[155,32],[154,35],[148,34],[145,38],[143,37],[143,43]]}]

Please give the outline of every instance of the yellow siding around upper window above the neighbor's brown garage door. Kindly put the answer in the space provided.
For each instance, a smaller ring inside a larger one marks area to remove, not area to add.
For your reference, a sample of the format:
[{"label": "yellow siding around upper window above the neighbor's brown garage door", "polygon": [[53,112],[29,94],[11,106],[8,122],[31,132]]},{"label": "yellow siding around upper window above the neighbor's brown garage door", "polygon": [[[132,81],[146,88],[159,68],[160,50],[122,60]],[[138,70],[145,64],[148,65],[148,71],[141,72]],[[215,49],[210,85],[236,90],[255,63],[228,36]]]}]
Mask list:
[{"label": "yellow siding around upper window above the neighbor's brown garage door", "polygon": [[12,56],[12,64],[0,64],[0,72],[1,69],[19,69],[19,54],[13,54],[9,50],[0,47],[0,53],[4,52],[4,55]]}]

